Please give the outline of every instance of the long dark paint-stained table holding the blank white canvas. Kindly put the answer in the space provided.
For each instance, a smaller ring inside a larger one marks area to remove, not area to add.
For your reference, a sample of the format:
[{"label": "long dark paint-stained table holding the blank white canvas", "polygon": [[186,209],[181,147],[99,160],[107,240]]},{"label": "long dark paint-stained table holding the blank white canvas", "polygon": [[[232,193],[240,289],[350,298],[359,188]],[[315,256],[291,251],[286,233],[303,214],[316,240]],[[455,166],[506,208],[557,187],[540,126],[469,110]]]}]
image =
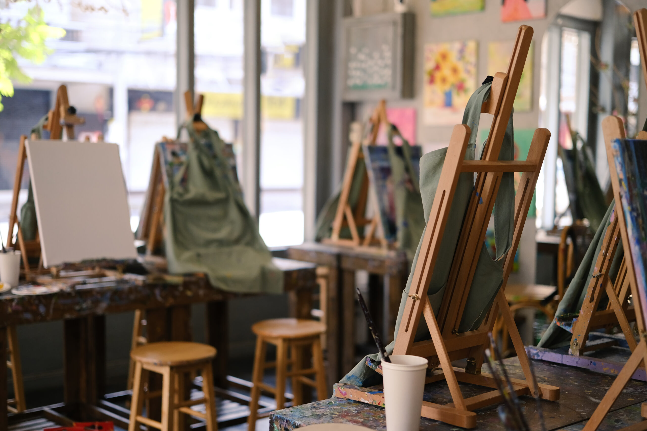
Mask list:
[{"label": "long dark paint-stained table holding the blank white canvas", "polygon": [[[274,263],[283,270],[292,317],[309,318],[316,266],[280,258],[274,258]],[[218,350],[214,359],[214,383],[226,388],[227,301],[252,295],[215,289],[204,276],[187,275],[179,283],[144,283],[109,277],[52,295],[0,295],[0,326],[63,320],[65,405],[58,411],[48,409],[47,415],[55,417],[65,412],[74,419],[107,417],[118,423],[100,407],[105,394],[105,314],[143,309],[148,321],[148,342],[189,341],[191,305],[206,303],[206,337]],[[8,420],[6,346],[6,330],[0,330],[0,430],[7,429]],[[59,423],[65,423],[64,418],[59,419]],[[21,414],[12,415],[12,421],[19,420]]]}]

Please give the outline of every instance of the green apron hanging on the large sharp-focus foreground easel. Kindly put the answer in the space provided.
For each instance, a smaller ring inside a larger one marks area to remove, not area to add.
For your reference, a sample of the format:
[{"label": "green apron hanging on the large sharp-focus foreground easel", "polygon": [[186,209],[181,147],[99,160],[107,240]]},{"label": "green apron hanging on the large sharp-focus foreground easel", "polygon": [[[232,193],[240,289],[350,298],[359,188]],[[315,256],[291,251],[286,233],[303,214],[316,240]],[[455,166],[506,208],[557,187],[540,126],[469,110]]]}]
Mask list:
[{"label": "green apron hanging on the large sharp-focus foreground easel", "polygon": [[[472,94],[470,100],[465,108],[463,114],[463,124],[470,127],[472,133],[470,134],[469,145],[465,153],[465,160],[474,160],[476,152],[476,136],[479,126],[479,118],[481,116],[481,105],[490,94],[491,81],[485,83]],[[499,153],[499,160],[513,160],[514,159],[514,137],[513,137],[512,114],[508,121],[505,137],[501,145],[501,152]],[[424,207],[424,219],[429,219],[429,214],[433,204],[438,182],[443,169],[443,163],[447,149],[439,149],[436,151],[424,154],[420,160],[420,191],[422,195],[422,205]],[[449,277],[452,260],[454,258],[454,251],[461,233],[463,226],[463,218],[465,211],[474,191],[474,174],[462,173],[459,175],[459,180],[454,193],[454,200],[450,209],[448,222],[443,231],[443,239],[441,240],[441,248],[438,253],[435,266],[433,268],[432,279],[429,284],[427,294],[432,304],[433,312],[437,313],[443,300],[444,290]],[[501,178],[501,185],[494,204],[494,238],[496,242],[496,260],[492,260],[490,254],[483,242],[481,253],[476,264],[476,271],[474,273],[474,280],[470,286],[470,292],[465,304],[465,311],[459,324],[458,331],[465,332],[478,328],[485,319],[485,315],[490,310],[492,302],[501,287],[503,282],[503,262],[505,255],[512,245],[512,233],[514,231],[514,174],[504,173]],[[424,235],[424,234],[423,234]],[[409,289],[411,288],[411,280],[413,277],[413,269],[415,269],[418,255],[422,245],[422,238],[418,244],[411,265],[411,272],[407,280],[406,288],[402,292],[402,299],[400,300],[400,308],[398,310],[397,321],[395,323],[394,339],[402,321],[402,314],[404,313],[404,306],[408,297]],[[415,335],[415,341],[430,339],[429,330],[427,328],[424,318],[418,324],[418,330]],[[386,347],[386,351],[390,354],[393,352],[395,341],[391,342]],[[377,361],[378,354],[369,355],[371,359]],[[381,376],[373,369],[366,366],[366,357],[358,363],[353,370],[351,370],[342,383],[355,384],[357,386],[373,386],[380,383]]]}]

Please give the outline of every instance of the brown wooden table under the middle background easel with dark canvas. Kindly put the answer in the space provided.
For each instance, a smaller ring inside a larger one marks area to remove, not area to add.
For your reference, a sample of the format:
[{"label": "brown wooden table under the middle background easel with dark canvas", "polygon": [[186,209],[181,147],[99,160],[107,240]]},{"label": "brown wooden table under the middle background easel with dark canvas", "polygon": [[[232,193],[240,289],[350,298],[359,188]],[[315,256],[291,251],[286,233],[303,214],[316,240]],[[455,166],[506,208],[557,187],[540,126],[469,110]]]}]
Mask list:
[{"label": "brown wooden table under the middle background easel with dark canvas", "polygon": [[[329,268],[327,289],[327,368],[329,386],[344,377],[355,358],[355,272],[369,273],[369,308],[385,342],[393,340],[402,290],[410,266],[402,251],[380,247],[347,247],[316,242],[292,246],[289,258]],[[380,282],[383,278],[383,282]],[[336,288],[333,288],[336,286]],[[333,359],[336,358],[336,361]]]}]

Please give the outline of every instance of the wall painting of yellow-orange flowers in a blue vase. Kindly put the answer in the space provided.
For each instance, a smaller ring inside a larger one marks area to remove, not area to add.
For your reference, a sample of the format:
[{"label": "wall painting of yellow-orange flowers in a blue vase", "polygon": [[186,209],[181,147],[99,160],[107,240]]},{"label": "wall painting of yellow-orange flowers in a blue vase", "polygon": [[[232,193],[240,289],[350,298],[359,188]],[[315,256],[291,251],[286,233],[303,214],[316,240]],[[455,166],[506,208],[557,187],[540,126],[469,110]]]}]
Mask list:
[{"label": "wall painting of yellow-orange flowers in a blue vase", "polygon": [[426,125],[455,125],[476,90],[476,41],[428,43],[424,46]]}]

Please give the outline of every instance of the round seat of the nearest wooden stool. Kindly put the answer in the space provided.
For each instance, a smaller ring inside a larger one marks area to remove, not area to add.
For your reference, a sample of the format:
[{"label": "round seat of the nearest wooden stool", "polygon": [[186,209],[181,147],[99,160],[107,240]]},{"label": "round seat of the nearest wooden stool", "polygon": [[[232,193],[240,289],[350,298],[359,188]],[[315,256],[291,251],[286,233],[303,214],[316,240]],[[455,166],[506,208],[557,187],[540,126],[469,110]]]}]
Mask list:
[{"label": "round seat of the nearest wooden stool", "polygon": [[131,350],[133,361],[144,364],[179,366],[204,362],[215,357],[215,348],[199,342],[168,341],[146,344]]}]

